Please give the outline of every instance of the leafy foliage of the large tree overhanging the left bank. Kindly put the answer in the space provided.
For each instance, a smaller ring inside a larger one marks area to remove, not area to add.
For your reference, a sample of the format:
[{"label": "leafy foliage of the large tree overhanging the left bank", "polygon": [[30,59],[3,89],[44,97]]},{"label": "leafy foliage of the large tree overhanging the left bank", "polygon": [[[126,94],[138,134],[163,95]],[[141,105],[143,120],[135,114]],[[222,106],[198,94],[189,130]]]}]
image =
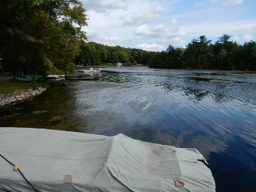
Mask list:
[{"label": "leafy foliage of the large tree overhanging the left bank", "polygon": [[14,74],[70,71],[86,40],[85,9],[77,0],[0,0],[0,54]]}]

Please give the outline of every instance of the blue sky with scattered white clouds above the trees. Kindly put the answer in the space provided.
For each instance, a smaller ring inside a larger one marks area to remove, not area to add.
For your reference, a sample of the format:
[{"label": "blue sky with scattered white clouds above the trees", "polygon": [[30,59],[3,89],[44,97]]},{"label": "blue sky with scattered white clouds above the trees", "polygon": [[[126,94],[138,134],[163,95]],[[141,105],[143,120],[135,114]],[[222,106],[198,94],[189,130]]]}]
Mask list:
[{"label": "blue sky with scattered white clouds above the trees", "polygon": [[81,0],[89,18],[89,41],[166,50],[205,35],[223,34],[241,45],[256,41],[256,0]]}]

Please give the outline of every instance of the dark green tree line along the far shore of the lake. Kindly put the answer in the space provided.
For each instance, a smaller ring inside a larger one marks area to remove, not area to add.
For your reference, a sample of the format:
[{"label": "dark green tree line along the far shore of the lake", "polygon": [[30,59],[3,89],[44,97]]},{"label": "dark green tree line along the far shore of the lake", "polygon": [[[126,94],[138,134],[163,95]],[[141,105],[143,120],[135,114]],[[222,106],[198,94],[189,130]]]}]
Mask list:
[{"label": "dark green tree line along the far shore of the lake", "polygon": [[236,41],[230,41],[230,38],[230,35],[224,34],[211,43],[203,35],[193,39],[186,47],[169,45],[167,50],[161,52],[88,42],[82,45],[75,62],[89,66],[102,62],[122,62],[153,68],[256,71],[256,42],[239,45]]}]

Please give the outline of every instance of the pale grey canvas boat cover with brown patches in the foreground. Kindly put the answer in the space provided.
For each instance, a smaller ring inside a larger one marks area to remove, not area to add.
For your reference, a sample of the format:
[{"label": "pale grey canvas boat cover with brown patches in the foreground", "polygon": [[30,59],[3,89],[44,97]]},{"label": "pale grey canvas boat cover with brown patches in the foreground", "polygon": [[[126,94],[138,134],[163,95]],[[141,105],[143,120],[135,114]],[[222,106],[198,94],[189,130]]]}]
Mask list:
[{"label": "pale grey canvas boat cover with brown patches in the foreground", "polygon": [[[142,142],[123,134],[0,128],[0,154],[19,165],[41,192],[215,191],[210,169],[203,162],[183,159],[203,159],[198,150]],[[35,190],[0,156],[0,191]]]}]

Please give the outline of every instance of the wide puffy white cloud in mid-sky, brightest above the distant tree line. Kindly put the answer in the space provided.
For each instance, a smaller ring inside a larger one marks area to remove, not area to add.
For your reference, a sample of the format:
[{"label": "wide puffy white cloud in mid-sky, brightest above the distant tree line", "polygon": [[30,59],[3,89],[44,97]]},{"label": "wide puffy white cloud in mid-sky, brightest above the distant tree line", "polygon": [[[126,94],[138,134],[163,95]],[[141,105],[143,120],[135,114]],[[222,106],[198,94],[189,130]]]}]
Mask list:
[{"label": "wide puffy white cloud in mid-sky, brightest above the distant tree line", "polygon": [[164,24],[159,24],[153,28],[148,25],[141,25],[134,30],[134,35],[141,35],[146,38],[152,37],[177,37],[186,35],[184,31],[179,28],[172,28],[165,26]]}]

